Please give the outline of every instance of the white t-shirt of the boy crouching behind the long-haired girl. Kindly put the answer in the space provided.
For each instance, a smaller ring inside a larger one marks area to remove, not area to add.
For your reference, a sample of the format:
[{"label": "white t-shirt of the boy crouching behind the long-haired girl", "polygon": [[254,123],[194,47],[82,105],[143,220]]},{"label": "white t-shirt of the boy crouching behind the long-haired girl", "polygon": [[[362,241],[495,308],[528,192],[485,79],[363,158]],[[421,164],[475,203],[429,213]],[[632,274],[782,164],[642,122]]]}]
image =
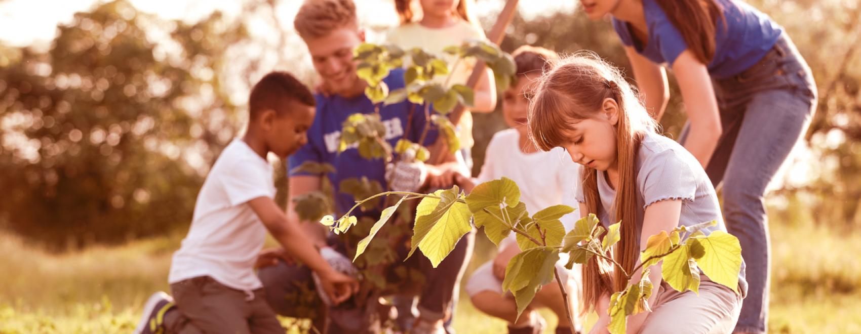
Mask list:
[{"label": "white t-shirt of the boy crouching behind the long-haired girl", "polygon": [[[485,163],[477,181],[487,182],[505,176],[517,182],[520,201],[526,204],[530,215],[559,204],[578,208],[574,191],[579,187],[579,164],[574,164],[560,147],[549,152],[523,153],[519,143],[517,129],[505,129],[494,134],[487,145]],[[578,218],[576,211],[563,216],[561,221],[565,230],[571,231]],[[509,234],[499,249],[515,240],[515,233]]]}]

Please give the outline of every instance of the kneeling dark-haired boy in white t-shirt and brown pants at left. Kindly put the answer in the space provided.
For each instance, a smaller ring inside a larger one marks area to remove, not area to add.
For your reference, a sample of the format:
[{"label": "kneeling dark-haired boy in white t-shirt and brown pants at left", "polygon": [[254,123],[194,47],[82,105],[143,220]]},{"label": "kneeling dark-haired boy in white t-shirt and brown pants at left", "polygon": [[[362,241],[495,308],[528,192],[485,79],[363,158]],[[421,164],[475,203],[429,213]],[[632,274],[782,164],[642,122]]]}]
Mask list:
[{"label": "kneeling dark-haired boy in white t-shirt and brown pants at left", "polygon": [[[332,269],[274,201],[266,156],[287,158],[307,142],[314,104],[307,87],[286,72],[271,72],[254,86],[248,131],[215,161],[197,195],[189,234],[170,264],[176,301],[153,294],[135,333],[283,333],[254,273],[258,261],[273,257],[306,264],[335,304],[356,292],[356,280]],[[282,254],[261,256],[267,231]]]}]

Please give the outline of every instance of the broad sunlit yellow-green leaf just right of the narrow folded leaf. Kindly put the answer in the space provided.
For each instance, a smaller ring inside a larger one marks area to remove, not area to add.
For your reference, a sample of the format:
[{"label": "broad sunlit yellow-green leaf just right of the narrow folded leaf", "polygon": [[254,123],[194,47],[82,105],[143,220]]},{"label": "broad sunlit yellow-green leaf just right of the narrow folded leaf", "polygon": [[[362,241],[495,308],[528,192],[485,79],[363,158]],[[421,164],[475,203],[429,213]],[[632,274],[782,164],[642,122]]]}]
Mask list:
[{"label": "broad sunlit yellow-green leaf just right of the narrow folded leaf", "polygon": [[[431,260],[437,268],[449,253],[455,249],[455,244],[472,231],[469,224],[469,208],[457,201],[459,189],[440,190],[434,193],[441,199],[425,197],[418,203],[416,209],[416,226],[412,234],[412,250],[406,257],[411,257],[416,248]],[[433,206],[433,208],[431,208]]]}]

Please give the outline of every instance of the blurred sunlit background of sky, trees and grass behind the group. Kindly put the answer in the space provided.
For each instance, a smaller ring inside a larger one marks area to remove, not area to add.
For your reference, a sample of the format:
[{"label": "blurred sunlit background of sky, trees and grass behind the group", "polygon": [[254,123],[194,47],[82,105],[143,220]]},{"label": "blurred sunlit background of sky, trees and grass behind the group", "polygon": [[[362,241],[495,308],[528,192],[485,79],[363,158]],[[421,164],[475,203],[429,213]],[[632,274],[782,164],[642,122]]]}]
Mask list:
[{"label": "blurred sunlit background of sky, trees and grass behind the group", "polygon": [[[372,41],[398,23],[391,0],[356,3]],[[503,3],[476,0],[486,30]],[[767,197],[770,329],[859,332],[861,6],[749,3],[786,28],[820,93],[809,132]],[[9,273],[0,278],[0,333],[128,330],[144,298],[166,288],[170,253],[203,177],[242,131],[251,84],[273,70],[315,83],[293,29],[299,6],[0,0],[0,268]],[[590,22],[578,7],[521,1],[503,49],[588,49],[628,66],[609,20]],[[684,106],[670,77],[661,122],[676,136]],[[477,171],[487,141],[505,124],[499,110],[475,119]],[[283,164],[272,163],[283,202]],[[491,256],[488,244],[480,239],[474,263]],[[466,298],[458,307],[461,332],[504,329]]]}]

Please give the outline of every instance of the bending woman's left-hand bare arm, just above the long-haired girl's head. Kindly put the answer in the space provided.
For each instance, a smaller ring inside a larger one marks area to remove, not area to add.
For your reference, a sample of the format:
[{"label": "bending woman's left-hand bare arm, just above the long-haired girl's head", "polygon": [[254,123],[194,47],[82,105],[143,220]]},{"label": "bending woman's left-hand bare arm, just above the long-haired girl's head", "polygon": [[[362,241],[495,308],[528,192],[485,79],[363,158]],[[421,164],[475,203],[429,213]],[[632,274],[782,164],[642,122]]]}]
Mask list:
[{"label": "bending woman's left-hand bare arm, just above the long-haired girl's head", "polygon": [[643,96],[646,110],[656,121],[664,115],[666,102],[670,101],[670,89],[666,82],[666,71],[661,65],[637,53],[632,46],[625,46],[625,53],[634,69],[637,88]]}]

